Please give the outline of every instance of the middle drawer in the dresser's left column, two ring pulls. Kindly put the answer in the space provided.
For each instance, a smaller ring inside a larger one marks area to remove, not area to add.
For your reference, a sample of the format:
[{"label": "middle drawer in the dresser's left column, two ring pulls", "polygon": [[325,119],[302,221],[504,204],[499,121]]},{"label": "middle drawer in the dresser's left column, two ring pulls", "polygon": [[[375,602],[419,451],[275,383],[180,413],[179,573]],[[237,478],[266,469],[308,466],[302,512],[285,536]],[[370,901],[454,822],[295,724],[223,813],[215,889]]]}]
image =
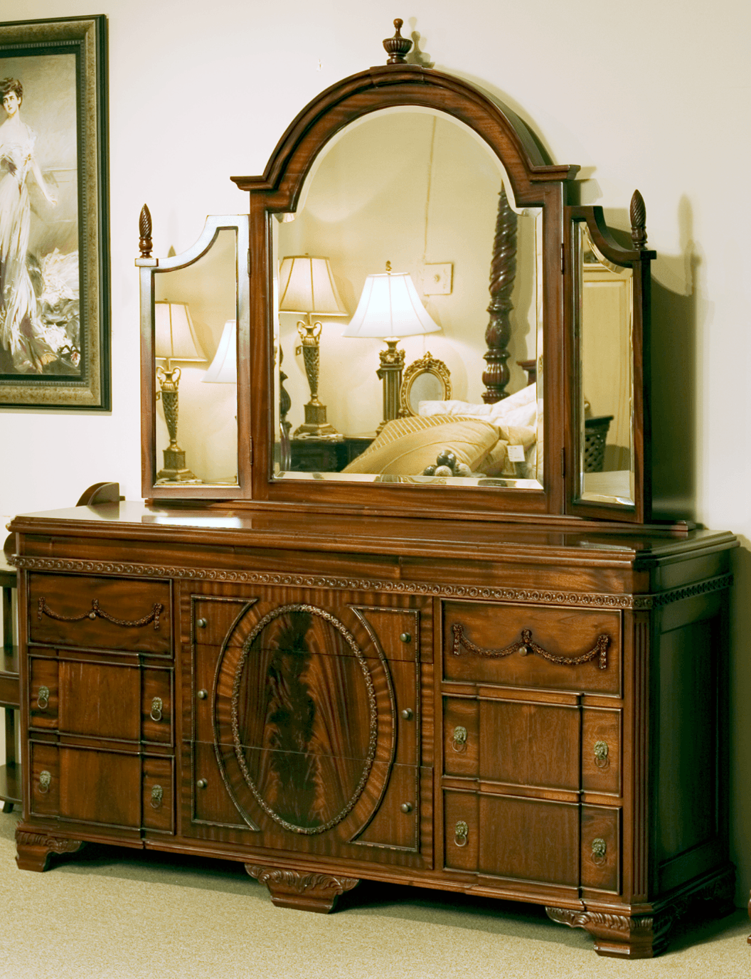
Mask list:
[{"label": "middle drawer in the dresser's left column, two ring pulls", "polygon": [[28,663],[32,729],[171,744],[171,670],[33,654]]}]

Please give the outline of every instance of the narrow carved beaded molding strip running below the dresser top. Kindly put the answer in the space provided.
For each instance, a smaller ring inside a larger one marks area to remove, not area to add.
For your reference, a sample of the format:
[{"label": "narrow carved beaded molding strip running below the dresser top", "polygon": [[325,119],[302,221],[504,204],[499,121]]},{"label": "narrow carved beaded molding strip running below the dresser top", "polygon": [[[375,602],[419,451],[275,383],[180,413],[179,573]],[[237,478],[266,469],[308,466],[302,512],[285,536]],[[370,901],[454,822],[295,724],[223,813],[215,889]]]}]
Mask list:
[{"label": "narrow carved beaded molding strip running below the dresser top", "polygon": [[546,591],[537,588],[492,588],[464,584],[392,582],[366,578],[335,578],[321,575],[286,575],[274,572],[227,571],[212,568],[181,568],[166,565],[114,561],[81,561],[69,558],[22,557],[11,555],[11,564],[25,571],[63,571],[85,575],[124,575],[128,578],[173,578],[203,582],[241,584],[281,584],[308,588],[350,588],[356,591],[386,591],[438,598],[478,598],[507,602],[543,602],[547,605],[574,605],[583,608],[646,610],[670,605],[696,595],[723,591],[732,584],[732,575],[721,575],[706,582],[683,585],[659,594],[612,594],[607,592]]}]

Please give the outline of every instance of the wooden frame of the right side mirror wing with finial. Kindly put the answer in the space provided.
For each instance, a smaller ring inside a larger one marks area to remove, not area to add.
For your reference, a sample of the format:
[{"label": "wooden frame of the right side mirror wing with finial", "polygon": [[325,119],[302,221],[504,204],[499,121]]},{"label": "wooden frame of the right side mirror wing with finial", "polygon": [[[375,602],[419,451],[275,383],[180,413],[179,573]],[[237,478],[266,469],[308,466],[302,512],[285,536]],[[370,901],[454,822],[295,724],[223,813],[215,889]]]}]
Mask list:
[{"label": "wooden frame of the right side mirror wing with finial", "polygon": [[[649,376],[649,333],[651,265],[656,253],[647,249],[646,210],[638,191],[631,201],[631,238],[633,248],[624,247],[615,240],[605,223],[600,207],[568,207],[566,210],[566,261],[573,274],[566,281],[566,369],[565,442],[571,446],[568,456],[571,464],[566,467],[567,512],[577,517],[617,520],[636,524],[651,520],[651,457],[650,419],[647,393]],[[621,268],[632,270],[632,466],[634,473],[634,505],[616,502],[592,502],[582,498],[581,474],[584,469],[585,445],[582,419],[584,418],[584,391],[581,383],[582,338],[581,297],[582,255],[579,245],[579,225],[585,223],[589,238],[605,259]]]}]

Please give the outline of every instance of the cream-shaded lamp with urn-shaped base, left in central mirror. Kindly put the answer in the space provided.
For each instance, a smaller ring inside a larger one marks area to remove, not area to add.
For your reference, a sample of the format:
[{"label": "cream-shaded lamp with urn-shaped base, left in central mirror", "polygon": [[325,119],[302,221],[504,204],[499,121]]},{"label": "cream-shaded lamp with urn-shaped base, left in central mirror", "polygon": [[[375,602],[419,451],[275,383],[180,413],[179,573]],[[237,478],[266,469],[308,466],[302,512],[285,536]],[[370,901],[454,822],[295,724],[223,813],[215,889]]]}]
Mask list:
[{"label": "cream-shaded lamp with urn-shaped base, left in central mirror", "polygon": [[287,256],[279,267],[279,311],[305,315],[298,320],[298,333],[305,362],[310,400],[305,404],[305,422],[293,438],[342,439],[326,419],[326,405],[318,399],[320,337],[323,325],[314,316],[347,316],[328,258]]}]

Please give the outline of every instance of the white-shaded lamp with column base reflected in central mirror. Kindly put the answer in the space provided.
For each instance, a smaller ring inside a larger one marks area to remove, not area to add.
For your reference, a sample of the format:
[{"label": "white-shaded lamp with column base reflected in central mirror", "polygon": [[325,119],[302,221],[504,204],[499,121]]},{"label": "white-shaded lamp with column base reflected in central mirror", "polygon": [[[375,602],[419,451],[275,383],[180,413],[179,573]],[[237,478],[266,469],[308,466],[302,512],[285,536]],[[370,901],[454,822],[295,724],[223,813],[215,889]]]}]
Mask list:
[{"label": "white-shaded lamp with column base reflected in central mirror", "polygon": [[383,381],[383,421],[377,433],[387,422],[399,417],[404,367],[404,351],[397,348],[399,340],[421,333],[437,333],[440,329],[420,302],[407,272],[393,272],[391,262],[387,261],[386,272],[368,275],[365,279],[360,301],[342,336],[375,337],[387,345],[387,350],[381,350],[381,366],[376,372]]}]

